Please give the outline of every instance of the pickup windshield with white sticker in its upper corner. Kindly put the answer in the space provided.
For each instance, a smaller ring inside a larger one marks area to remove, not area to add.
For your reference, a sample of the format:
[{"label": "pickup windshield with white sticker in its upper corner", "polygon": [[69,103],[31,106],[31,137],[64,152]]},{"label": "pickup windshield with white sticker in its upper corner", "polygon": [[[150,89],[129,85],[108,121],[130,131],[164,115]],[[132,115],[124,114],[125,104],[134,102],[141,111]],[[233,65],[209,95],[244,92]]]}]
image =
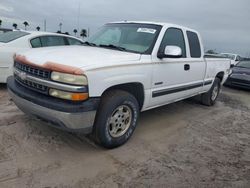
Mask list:
[{"label": "pickup windshield with white sticker in its upper corner", "polygon": [[99,47],[151,54],[161,28],[153,24],[106,24],[87,42]]}]

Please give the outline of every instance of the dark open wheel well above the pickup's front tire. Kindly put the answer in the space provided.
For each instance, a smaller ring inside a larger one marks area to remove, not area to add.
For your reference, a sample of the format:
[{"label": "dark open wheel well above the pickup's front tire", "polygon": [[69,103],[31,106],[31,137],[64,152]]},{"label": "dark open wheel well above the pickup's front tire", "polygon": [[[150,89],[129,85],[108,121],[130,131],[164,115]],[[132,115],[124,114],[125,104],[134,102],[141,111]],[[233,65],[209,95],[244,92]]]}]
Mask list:
[{"label": "dark open wheel well above the pickup's front tire", "polygon": [[140,109],[142,109],[144,103],[144,87],[141,83],[126,83],[115,85],[106,89],[103,94],[114,89],[127,91],[128,93],[132,94],[137,99]]}]

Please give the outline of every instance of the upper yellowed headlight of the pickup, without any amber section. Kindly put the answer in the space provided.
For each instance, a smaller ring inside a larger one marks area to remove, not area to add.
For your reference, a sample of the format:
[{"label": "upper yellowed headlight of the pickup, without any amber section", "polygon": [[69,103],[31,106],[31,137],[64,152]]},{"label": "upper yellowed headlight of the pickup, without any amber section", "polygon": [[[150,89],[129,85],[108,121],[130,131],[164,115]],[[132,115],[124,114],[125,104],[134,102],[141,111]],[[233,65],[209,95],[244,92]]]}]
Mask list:
[{"label": "upper yellowed headlight of the pickup, without any amber section", "polygon": [[84,75],[73,75],[60,72],[52,72],[51,79],[57,82],[73,84],[73,85],[88,85],[87,77]]}]

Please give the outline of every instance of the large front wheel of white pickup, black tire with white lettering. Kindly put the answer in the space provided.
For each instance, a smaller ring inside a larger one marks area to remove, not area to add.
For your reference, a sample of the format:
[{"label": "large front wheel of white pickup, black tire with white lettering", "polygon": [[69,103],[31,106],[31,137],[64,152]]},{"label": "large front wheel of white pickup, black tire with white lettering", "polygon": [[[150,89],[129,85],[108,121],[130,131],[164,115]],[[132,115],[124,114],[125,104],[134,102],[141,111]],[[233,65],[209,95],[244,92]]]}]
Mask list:
[{"label": "large front wheel of white pickup, black tire with white lettering", "polygon": [[105,93],[95,119],[95,142],[105,148],[123,145],[132,136],[139,118],[139,104],[130,93],[111,90]]}]

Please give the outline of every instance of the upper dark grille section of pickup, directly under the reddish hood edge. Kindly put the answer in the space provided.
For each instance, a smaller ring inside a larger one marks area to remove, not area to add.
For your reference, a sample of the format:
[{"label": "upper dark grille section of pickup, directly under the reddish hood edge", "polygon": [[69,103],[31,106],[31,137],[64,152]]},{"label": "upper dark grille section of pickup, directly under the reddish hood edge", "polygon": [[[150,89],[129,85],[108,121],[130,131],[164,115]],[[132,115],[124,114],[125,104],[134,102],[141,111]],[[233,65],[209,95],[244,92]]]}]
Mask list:
[{"label": "upper dark grille section of pickup, directly under the reddish hood edge", "polygon": [[27,74],[30,74],[39,78],[49,79],[50,71],[40,69],[40,68],[35,68],[35,67],[25,65],[19,62],[15,62],[14,66],[16,69],[26,72]]}]

